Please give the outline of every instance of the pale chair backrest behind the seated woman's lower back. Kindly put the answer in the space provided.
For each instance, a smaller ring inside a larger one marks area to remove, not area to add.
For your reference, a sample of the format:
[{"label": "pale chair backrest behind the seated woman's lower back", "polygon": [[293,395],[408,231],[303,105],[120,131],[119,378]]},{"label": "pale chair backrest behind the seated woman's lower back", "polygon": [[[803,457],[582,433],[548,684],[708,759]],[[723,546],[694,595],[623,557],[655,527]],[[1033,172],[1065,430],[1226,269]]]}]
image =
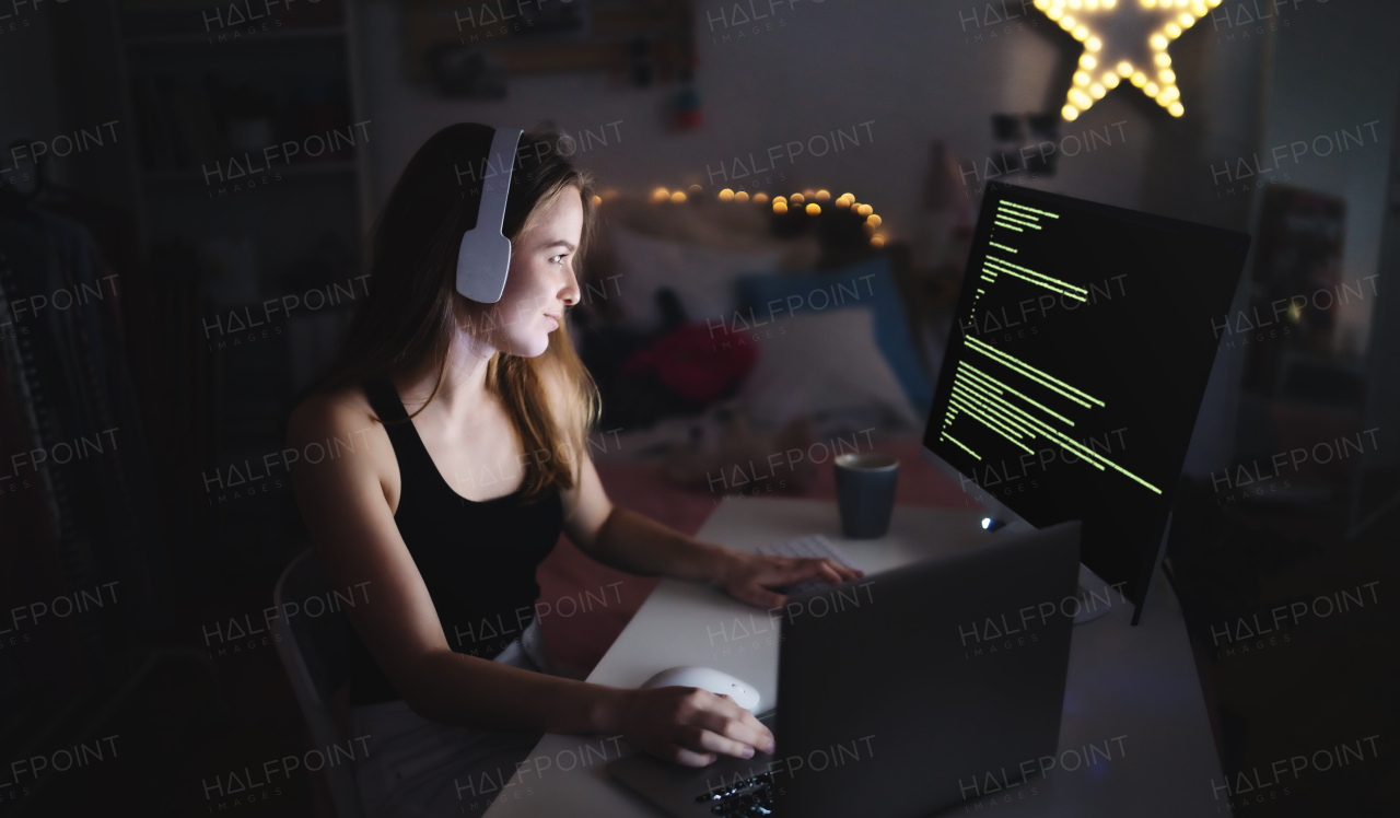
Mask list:
[{"label": "pale chair backrest behind the seated woman's lower back", "polygon": [[[309,548],[291,560],[272,592],[279,612],[272,621],[272,630],[279,637],[277,654],[318,747],[346,740],[330,714],[330,698],[350,679],[344,614],[329,608],[316,616],[301,612],[307,599],[325,602],[329,592],[330,583]],[[294,611],[297,615],[291,615]],[[340,818],[363,818],[351,765],[326,765],[322,772],[326,773],[336,814]]]}]

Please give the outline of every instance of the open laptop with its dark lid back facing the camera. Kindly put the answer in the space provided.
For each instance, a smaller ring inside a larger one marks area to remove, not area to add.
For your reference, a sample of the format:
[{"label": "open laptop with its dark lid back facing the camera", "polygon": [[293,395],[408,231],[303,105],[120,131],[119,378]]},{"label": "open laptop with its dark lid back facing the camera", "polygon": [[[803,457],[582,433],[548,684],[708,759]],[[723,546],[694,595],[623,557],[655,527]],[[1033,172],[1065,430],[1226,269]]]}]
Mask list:
[{"label": "open laptop with its dark lid back facing the camera", "polygon": [[1056,751],[1078,571],[1074,521],[790,597],[809,612],[827,597],[830,614],[781,623],[778,706],[759,719],[773,755],[634,754],[608,772],[678,818],[911,818],[974,800]]}]

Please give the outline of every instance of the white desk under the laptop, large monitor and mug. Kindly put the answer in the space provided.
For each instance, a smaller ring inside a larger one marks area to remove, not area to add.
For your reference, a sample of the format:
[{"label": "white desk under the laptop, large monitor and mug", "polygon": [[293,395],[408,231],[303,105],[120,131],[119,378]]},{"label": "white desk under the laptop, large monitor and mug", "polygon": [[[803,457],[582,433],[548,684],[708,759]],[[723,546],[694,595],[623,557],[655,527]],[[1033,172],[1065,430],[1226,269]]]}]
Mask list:
[{"label": "white desk under the laptop, large monitor and mug", "polygon": [[[818,532],[857,567],[874,574],[995,536],[981,531],[980,518],[980,513],[959,508],[899,507],[886,536],[848,541],[840,535],[836,503],[741,499],[722,504],[697,538],[753,550],[774,539]],[[1137,628],[1128,625],[1131,605],[1123,602],[1106,616],[1074,628],[1060,756],[1068,765],[1075,759],[1071,751],[1079,751],[1078,756],[1092,758],[1093,765],[1036,775],[1002,793],[997,804],[984,803],[980,810],[976,801],[958,804],[948,811],[949,817],[1217,814],[1211,780],[1222,782],[1224,773],[1186,628],[1161,571],[1154,581],[1158,585]],[[704,665],[755,685],[764,700],[760,709],[767,709],[777,696],[777,632],[767,612],[729,599],[706,584],[664,580],[588,681],[634,688],[664,668]],[[1085,749],[1086,745],[1109,748],[1107,761],[1102,752]],[[522,768],[526,772],[501,790],[486,815],[662,815],[608,777],[602,755],[612,759],[619,751],[633,752],[624,741],[546,735]],[[573,769],[564,772],[564,768]]]}]

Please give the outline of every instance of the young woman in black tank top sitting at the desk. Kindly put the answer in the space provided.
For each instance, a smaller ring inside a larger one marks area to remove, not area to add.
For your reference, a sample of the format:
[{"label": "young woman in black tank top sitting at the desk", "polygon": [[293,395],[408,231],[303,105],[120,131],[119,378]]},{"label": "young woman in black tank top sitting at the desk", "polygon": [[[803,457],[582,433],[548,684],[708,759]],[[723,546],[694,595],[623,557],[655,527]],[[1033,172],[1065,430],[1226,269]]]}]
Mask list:
[{"label": "young woman in black tank top sitting at the desk", "polygon": [[783,604],[774,585],[858,576],[697,542],[608,500],[585,445],[598,394],[567,332],[591,178],[557,133],[521,137],[505,291],[469,301],[455,289],[456,252],[490,133],[445,127],[409,161],[375,226],[370,291],[340,359],[288,422],[298,450],[354,443],[315,465],[302,458],[293,485],[332,587],[368,583],[367,602],[346,614],[370,815],[479,814],[494,797],[479,783],[508,780],[542,733],[623,735],[690,766],[771,745],[727,696],[549,675],[538,622],[517,640],[487,636],[482,623],[535,604],[535,569],[560,531],[601,563],[714,581],[759,606]]}]

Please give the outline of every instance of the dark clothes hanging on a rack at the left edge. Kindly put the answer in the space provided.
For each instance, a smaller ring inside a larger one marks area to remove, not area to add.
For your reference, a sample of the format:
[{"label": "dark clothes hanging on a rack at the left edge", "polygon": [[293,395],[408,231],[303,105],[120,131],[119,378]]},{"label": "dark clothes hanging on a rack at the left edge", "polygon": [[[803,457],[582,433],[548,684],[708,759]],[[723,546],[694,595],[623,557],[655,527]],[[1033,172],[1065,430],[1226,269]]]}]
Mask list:
[{"label": "dark clothes hanging on a rack at the left edge", "polygon": [[29,612],[0,623],[0,639],[18,640],[0,667],[10,703],[20,689],[71,695],[118,678],[133,626],[158,618],[168,588],[155,570],[167,555],[129,377],[122,276],[83,223],[6,204],[0,609]]}]

